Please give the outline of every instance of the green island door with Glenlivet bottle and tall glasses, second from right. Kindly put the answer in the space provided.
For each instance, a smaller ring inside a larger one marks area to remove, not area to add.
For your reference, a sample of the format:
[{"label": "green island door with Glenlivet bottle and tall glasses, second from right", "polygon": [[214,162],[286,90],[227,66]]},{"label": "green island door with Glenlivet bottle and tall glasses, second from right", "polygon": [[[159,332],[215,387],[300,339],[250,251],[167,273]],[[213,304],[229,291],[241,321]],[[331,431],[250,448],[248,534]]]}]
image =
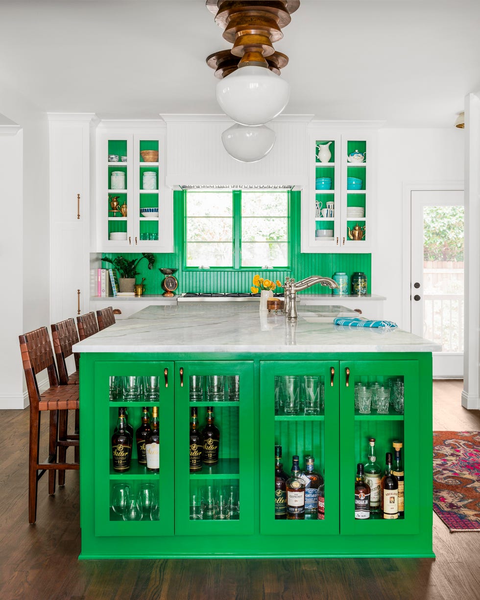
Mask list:
[{"label": "green island door with Glenlivet bottle and tall glasses, second from right", "polygon": [[[338,361],[261,362],[260,532],[263,534],[338,535],[338,379]],[[277,474],[278,446],[283,464]],[[303,473],[300,477],[305,484],[303,514],[301,506],[296,506],[302,504],[302,498],[297,499],[294,482],[279,481],[291,477],[295,456],[299,457]],[[311,460],[316,476],[313,478],[306,477],[309,475],[306,463]],[[286,505],[285,511],[282,504]],[[321,543],[319,538],[312,538],[312,544],[318,543]]]}]

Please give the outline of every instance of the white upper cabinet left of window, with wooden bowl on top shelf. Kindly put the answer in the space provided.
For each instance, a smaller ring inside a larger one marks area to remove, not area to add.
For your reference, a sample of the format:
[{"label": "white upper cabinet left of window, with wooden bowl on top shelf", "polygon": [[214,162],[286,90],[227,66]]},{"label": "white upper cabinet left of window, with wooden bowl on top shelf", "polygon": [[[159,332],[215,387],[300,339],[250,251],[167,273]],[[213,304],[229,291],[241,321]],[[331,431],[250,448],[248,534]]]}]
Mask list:
[{"label": "white upper cabinet left of window, with wooden bowl on top shelf", "polygon": [[171,252],[165,130],[102,130],[97,149],[97,250]]}]

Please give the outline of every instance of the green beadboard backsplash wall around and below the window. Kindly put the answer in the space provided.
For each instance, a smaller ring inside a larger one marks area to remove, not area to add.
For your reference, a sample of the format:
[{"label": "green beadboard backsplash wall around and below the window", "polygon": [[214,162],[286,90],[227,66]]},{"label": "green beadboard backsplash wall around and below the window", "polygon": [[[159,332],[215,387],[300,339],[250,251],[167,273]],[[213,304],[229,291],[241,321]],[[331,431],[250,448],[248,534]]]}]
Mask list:
[{"label": "green beadboard backsplash wall around and below the window", "polygon": [[[261,277],[276,281],[285,280],[292,276],[297,281],[309,275],[322,275],[332,277],[335,271],[345,271],[349,281],[351,274],[362,271],[367,277],[367,292],[371,293],[371,254],[302,254],[300,253],[300,192],[291,193],[291,269],[274,269],[262,271],[260,269],[246,269],[245,271],[232,271],[214,269],[211,271],[191,271],[183,269],[183,206],[184,194],[182,191],[174,193],[174,253],[156,254],[153,269],[148,270],[147,260],[141,260],[138,265],[138,283],[145,277],[146,294],[162,294],[160,284],[164,275],[159,268],[177,268],[175,277],[178,279],[177,294],[185,292],[250,292],[252,278],[258,273]],[[104,253],[105,256],[113,258],[117,254]],[[124,253],[127,259],[141,256],[139,253]],[[112,265],[102,262],[103,268]],[[313,286],[305,292],[330,294],[330,289],[324,286]]]}]

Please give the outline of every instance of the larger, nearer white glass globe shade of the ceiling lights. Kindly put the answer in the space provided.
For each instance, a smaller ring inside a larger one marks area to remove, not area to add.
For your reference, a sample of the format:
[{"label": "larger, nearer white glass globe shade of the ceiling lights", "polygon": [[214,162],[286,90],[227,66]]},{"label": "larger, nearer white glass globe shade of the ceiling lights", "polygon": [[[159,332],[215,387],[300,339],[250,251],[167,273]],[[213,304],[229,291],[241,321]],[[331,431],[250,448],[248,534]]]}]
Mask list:
[{"label": "larger, nearer white glass globe shade of the ceiling lights", "polygon": [[279,115],[290,98],[290,85],[266,67],[241,67],[216,86],[223,112],[242,125],[263,125]]}]

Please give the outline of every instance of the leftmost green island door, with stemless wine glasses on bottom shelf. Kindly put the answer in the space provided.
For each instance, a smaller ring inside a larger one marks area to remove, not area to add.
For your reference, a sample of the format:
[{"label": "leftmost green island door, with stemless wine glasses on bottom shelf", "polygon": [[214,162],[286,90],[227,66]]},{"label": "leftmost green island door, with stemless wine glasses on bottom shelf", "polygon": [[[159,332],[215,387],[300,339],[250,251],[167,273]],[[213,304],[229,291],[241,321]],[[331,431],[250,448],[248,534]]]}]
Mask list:
[{"label": "leftmost green island door, with stemless wine glasses on bottom shelf", "polygon": [[[96,535],[173,535],[173,362],[99,362],[95,381]],[[115,437],[120,413],[126,437]]]}]

